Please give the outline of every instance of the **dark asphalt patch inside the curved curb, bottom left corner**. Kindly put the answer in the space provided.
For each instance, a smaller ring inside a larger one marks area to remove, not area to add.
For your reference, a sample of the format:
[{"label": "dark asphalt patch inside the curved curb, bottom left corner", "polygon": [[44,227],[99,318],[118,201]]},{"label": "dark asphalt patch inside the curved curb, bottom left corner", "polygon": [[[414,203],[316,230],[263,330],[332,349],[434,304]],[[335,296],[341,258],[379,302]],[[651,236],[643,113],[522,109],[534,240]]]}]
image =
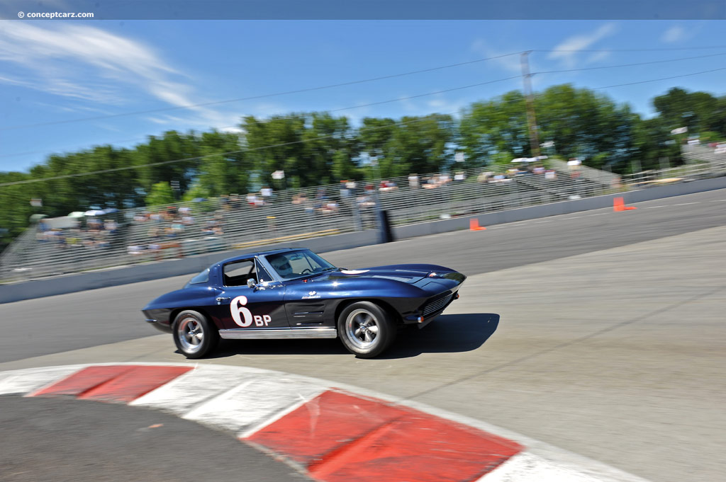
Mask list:
[{"label": "dark asphalt patch inside the curved curb, bottom left corner", "polygon": [[4,482],[311,480],[231,434],[139,407],[0,396],[0,427]]}]

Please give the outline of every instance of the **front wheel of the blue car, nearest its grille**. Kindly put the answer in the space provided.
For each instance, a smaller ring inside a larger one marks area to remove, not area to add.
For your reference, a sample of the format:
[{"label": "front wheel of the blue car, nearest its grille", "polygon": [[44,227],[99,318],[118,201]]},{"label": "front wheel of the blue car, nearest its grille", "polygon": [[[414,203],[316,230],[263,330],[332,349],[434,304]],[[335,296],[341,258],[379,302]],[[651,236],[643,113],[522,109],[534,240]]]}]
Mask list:
[{"label": "front wheel of the blue car, nearest its grille", "polygon": [[396,338],[396,325],[378,304],[357,302],[338,317],[338,336],[348,352],[358,358],[377,357]]}]

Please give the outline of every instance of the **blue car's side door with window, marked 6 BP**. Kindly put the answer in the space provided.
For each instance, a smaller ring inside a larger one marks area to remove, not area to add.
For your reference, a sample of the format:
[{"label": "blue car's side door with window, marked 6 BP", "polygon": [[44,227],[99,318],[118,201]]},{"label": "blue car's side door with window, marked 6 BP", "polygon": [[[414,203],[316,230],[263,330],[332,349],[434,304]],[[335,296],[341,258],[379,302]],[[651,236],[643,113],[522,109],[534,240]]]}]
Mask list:
[{"label": "blue car's side door with window, marked 6 BP", "polygon": [[[272,281],[258,260],[236,259],[221,267],[221,293],[212,316],[224,330],[290,328],[285,312],[285,285]],[[248,279],[256,286],[250,288]]]}]

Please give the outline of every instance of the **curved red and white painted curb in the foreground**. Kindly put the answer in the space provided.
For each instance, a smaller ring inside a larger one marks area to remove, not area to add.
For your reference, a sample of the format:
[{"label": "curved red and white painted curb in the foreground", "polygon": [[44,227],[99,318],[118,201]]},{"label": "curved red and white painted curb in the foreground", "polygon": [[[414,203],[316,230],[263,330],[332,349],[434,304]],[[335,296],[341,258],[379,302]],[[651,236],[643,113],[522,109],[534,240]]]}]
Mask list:
[{"label": "curved red and white painted curb in the foreground", "polygon": [[250,367],[99,364],[0,373],[0,395],[171,412],[231,431],[322,482],[646,482],[433,407]]}]

